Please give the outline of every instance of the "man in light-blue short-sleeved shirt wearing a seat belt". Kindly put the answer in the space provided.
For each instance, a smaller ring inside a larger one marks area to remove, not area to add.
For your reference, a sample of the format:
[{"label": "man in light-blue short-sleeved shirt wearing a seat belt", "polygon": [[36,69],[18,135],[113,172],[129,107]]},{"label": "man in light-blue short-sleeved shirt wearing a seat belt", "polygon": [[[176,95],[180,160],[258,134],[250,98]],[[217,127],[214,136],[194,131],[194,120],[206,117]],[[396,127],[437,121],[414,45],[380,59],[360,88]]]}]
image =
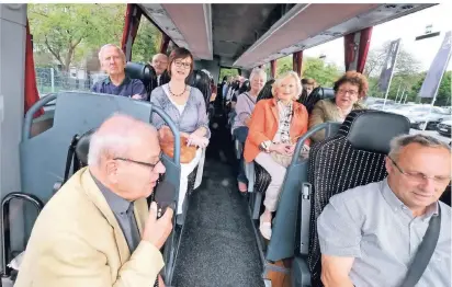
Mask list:
[{"label": "man in light-blue short-sleeved shirt wearing a seat belt", "polygon": [[433,255],[414,285],[451,286],[451,207],[438,200],[451,181],[450,148],[430,136],[399,136],[386,171],[381,182],[332,196],[320,214],[323,283],[402,286],[430,220],[441,213]]}]

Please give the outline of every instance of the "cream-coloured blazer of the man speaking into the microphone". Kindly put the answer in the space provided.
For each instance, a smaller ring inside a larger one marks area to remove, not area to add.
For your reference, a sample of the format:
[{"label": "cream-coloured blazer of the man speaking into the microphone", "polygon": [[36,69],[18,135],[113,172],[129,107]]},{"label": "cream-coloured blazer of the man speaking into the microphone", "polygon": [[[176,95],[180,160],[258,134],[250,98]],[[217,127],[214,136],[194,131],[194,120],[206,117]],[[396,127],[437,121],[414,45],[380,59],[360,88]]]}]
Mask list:
[{"label": "cream-coloured blazer of the man speaking into the microphone", "polygon": [[[146,199],[135,202],[139,232]],[[131,256],[125,237],[87,168],[47,203],[34,225],[14,287],[150,287],[163,267],[142,241]]]}]

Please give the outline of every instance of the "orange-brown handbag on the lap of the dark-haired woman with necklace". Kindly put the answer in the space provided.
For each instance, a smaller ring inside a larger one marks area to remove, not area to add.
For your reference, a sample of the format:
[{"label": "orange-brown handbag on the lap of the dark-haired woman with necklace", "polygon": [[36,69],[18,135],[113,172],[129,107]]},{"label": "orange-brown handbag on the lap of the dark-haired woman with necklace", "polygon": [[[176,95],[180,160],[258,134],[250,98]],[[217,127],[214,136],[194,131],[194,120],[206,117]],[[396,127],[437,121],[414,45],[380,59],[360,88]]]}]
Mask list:
[{"label": "orange-brown handbag on the lap of the dark-haired woman with necklace", "polygon": [[[180,137],[181,139],[181,150],[180,150],[180,162],[189,163],[196,156],[197,148],[195,146],[187,146],[187,137]],[[159,130],[159,141],[161,151],[170,158],[174,157],[174,136],[169,128],[161,128]]]}]

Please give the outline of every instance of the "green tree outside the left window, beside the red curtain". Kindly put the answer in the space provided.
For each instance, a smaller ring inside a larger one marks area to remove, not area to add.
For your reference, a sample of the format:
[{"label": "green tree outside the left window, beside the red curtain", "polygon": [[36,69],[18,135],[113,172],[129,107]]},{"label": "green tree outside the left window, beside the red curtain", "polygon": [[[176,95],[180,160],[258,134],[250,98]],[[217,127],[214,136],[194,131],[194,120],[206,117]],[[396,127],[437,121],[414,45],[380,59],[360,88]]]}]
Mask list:
[{"label": "green tree outside the left window, beside the red curtain", "polygon": [[120,44],[125,4],[29,4],[36,53],[50,54],[65,71],[106,43]]}]

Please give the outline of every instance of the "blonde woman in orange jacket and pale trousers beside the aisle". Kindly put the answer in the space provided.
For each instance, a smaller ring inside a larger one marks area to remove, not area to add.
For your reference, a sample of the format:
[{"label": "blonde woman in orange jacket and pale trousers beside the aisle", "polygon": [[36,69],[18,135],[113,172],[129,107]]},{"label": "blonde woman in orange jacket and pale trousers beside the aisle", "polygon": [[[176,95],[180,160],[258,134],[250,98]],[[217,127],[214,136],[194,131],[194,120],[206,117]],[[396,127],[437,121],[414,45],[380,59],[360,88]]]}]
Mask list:
[{"label": "blonde woman in orange jacket and pale trousers beside the aisle", "polygon": [[271,213],[276,210],[296,140],[307,131],[306,107],[295,102],[301,92],[302,83],[296,72],[283,74],[273,83],[274,97],[259,101],[249,123],[245,160],[255,160],[271,175],[263,202],[265,210],[260,217],[260,231],[265,239],[271,237]]}]

